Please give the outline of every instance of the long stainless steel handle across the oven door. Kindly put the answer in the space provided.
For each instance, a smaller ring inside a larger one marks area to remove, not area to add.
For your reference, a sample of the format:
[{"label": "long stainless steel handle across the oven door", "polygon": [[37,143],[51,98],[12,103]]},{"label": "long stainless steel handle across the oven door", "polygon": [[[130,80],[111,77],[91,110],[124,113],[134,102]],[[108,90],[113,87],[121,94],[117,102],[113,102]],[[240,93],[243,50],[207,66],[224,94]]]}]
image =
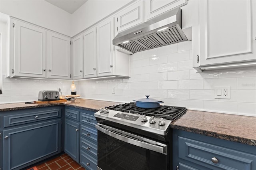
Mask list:
[{"label": "long stainless steel handle across the oven door", "polygon": [[123,130],[119,130],[113,127],[109,127],[106,125],[102,125],[100,123],[97,123],[95,125],[96,129],[100,130],[101,132],[112,136],[113,138],[116,138],[118,140],[122,140],[126,143],[133,144],[136,146],[140,146],[145,149],[149,149],[155,152],[159,152],[161,154],[167,154],[167,145],[162,144],[159,142],[156,142],[154,140],[150,140],[148,138],[144,138],[142,136],[138,136],[135,134],[131,134],[128,132],[124,132]]}]

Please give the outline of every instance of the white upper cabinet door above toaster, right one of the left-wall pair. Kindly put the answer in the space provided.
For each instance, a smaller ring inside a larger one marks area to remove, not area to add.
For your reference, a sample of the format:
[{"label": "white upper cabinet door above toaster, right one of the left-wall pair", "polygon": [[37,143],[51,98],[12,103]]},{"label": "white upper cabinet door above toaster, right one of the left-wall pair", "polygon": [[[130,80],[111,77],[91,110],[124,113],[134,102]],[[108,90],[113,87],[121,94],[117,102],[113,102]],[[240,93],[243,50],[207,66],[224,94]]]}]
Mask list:
[{"label": "white upper cabinet door above toaster, right one of the left-wall pair", "polygon": [[47,32],[47,77],[70,79],[70,39]]}]

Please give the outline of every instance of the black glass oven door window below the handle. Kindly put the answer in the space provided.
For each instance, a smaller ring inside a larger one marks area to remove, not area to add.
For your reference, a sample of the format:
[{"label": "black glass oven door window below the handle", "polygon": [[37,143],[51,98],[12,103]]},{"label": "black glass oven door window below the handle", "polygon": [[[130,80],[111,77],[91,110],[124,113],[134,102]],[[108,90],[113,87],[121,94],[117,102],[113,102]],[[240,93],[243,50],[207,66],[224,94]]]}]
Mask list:
[{"label": "black glass oven door window below the handle", "polygon": [[124,142],[98,130],[98,167],[102,170],[167,170],[166,154]]}]

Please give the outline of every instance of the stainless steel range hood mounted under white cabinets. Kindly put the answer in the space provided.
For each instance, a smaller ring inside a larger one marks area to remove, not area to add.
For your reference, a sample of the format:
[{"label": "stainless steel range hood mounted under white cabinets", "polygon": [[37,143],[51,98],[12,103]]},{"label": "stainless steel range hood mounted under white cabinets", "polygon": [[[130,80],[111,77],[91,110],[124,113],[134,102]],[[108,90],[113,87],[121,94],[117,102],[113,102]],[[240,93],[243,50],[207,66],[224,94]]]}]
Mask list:
[{"label": "stainless steel range hood mounted under white cabinets", "polygon": [[188,40],[181,30],[181,10],[176,8],[120,32],[113,44],[132,53]]}]

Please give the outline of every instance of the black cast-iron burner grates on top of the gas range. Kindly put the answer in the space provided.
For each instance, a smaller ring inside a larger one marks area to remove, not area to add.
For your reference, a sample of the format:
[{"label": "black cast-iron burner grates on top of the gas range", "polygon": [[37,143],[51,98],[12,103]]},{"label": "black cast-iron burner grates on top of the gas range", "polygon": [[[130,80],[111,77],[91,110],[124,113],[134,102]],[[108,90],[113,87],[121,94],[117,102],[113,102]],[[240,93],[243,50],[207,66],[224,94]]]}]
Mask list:
[{"label": "black cast-iron burner grates on top of the gas range", "polygon": [[166,106],[160,105],[158,108],[145,109],[136,107],[135,102],[124,103],[120,105],[114,105],[110,107],[106,107],[110,110],[121,111],[126,113],[134,113],[137,115],[146,115],[146,116],[154,116],[154,117],[163,117],[168,120],[175,120],[183,113],[186,113],[186,107],[176,107],[176,106]]}]

